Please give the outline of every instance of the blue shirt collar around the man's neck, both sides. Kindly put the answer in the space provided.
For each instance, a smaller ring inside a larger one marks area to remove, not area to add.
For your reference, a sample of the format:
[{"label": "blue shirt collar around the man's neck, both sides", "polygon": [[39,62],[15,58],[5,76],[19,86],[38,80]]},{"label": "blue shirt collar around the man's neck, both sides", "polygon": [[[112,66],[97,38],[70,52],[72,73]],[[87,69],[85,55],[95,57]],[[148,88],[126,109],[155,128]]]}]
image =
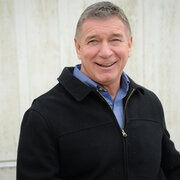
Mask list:
[{"label": "blue shirt collar around the man's neck, both sides", "polygon": [[[82,73],[80,71],[81,69],[81,64],[78,64],[75,66],[74,71],[73,71],[73,76],[76,77],[77,79],[79,79],[81,82],[83,82],[84,84],[86,84],[87,86],[93,88],[93,89],[97,89],[100,91],[106,91],[106,89],[104,89],[103,87],[101,87],[100,85],[98,85],[95,81],[93,81],[92,79],[90,79],[88,76],[86,76],[84,73]],[[127,92],[129,89],[129,78],[126,75],[126,73],[123,71],[122,75],[121,75],[121,89],[124,92]]]}]

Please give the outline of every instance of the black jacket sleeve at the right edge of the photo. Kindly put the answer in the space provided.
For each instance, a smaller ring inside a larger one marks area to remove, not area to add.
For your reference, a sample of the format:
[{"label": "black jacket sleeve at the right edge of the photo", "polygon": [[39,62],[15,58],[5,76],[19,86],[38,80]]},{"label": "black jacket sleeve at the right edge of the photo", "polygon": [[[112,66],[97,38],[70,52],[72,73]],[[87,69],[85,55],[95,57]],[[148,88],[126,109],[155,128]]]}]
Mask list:
[{"label": "black jacket sleeve at the right edge of the photo", "polygon": [[176,150],[174,143],[163,121],[162,140],[162,168],[167,180],[180,180],[180,153]]}]

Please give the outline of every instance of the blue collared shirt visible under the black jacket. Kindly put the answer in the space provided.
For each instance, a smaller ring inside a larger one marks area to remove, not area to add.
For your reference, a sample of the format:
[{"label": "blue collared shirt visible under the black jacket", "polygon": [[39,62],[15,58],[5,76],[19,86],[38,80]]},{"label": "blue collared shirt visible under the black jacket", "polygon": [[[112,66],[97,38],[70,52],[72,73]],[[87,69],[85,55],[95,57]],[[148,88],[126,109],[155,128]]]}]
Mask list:
[{"label": "blue collared shirt visible under the black jacket", "polygon": [[123,128],[123,119],[124,119],[123,98],[127,95],[129,89],[129,83],[130,83],[126,73],[123,72],[121,75],[121,85],[116,94],[115,100],[113,100],[111,95],[108,93],[106,89],[104,89],[103,87],[98,85],[95,81],[93,81],[84,73],[82,73],[80,71],[80,68],[81,68],[80,64],[76,65],[76,67],[74,68],[73,75],[87,86],[98,90],[102,94],[102,96],[106,99],[111,109],[113,110],[119,126]]}]

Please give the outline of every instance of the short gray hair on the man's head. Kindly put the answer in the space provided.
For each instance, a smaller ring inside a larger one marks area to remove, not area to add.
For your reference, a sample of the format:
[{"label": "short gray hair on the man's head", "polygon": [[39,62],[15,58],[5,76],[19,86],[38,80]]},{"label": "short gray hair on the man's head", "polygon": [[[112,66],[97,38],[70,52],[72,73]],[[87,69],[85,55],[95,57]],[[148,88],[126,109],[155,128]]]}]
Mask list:
[{"label": "short gray hair on the man's head", "polygon": [[102,1],[102,2],[92,4],[84,10],[84,12],[81,14],[79,21],[77,23],[75,37],[76,38],[79,37],[82,24],[86,19],[89,19],[89,18],[103,19],[103,18],[109,18],[113,16],[117,16],[120,18],[120,20],[126,26],[127,31],[128,31],[128,37],[130,38],[131,27],[124,11],[120,7],[108,1]]}]

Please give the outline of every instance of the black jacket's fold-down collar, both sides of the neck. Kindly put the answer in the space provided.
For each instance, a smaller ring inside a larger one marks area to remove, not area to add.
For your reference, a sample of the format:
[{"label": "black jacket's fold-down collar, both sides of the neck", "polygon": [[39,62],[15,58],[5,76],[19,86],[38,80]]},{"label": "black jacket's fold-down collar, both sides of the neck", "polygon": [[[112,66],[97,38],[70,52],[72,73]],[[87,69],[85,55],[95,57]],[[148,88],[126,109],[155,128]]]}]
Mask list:
[{"label": "black jacket's fold-down collar, both sides of the neck", "polygon": [[[62,86],[77,100],[83,100],[90,92],[94,91],[92,88],[86,86],[79,79],[73,76],[74,67],[65,67],[58,78]],[[135,89],[137,92],[144,94],[144,88],[136,84],[130,77],[130,86],[128,94]]]}]

